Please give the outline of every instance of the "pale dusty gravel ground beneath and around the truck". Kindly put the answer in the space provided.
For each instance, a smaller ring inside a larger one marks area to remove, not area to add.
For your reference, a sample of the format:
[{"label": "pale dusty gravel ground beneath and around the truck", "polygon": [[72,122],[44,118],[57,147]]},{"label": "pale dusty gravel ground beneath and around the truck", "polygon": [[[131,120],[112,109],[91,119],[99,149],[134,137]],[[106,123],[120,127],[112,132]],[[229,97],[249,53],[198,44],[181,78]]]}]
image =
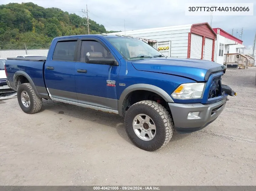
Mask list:
[{"label": "pale dusty gravel ground beneath and around the truck", "polygon": [[256,68],[227,70],[237,91],[206,128],[135,147],[118,115],[51,100],[22,112],[0,102],[0,185],[256,185]]}]

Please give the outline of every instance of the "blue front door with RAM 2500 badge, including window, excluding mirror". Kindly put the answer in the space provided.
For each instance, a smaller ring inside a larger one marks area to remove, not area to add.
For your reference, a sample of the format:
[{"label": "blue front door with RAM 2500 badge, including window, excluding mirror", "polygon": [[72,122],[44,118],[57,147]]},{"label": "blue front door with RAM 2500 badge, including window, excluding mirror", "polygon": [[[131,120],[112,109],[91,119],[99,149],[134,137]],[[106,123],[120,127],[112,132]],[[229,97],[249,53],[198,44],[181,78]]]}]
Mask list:
[{"label": "blue front door with RAM 2500 badge, including window, excluding mirror", "polygon": [[117,84],[120,63],[119,66],[113,66],[85,62],[88,52],[102,53],[104,58],[115,59],[107,45],[96,37],[81,39],[78,52],[81,52],[80,62],[75,65],[78,102],[118,110]]}]

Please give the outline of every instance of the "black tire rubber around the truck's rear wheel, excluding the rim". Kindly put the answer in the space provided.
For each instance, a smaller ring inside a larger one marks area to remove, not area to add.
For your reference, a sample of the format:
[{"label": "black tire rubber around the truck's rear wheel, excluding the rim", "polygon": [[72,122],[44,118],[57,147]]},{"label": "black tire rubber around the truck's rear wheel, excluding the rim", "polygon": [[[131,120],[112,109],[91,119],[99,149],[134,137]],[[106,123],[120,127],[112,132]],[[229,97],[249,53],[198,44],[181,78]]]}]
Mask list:
[{"label": "black tire rubber around the truck's rear wheel, excluding the rim", "polygon": [[[28,92],[29,100],[30,100],[30,105],[29,107],[25,107],[22,104],[21,100],[21,93],[22,91]],[[17,90],[17,98],[18,98],[18,103],[25,113],[32,114],[32,113],[37,113],[38,111],[41,110],[42,108],[42,98],[38,97],[35,94],[35,91],[33,90],[32,86],[30,83],[24,83],[20,84]]]}]

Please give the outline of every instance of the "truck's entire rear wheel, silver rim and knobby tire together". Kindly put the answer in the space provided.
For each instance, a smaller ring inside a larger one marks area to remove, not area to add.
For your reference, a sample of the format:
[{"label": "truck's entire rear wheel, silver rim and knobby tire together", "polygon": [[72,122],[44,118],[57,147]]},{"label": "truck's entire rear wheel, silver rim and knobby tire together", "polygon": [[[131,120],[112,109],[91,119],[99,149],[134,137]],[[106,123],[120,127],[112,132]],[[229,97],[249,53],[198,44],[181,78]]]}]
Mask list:
[{"label": "truck's entire rear wheel, silver rim and knobby tire together", "polygon": [[17,90],[18,103],[25,113],[37,113],[42,108],[42,98],[35,94],[30,83],[21,84]]}]

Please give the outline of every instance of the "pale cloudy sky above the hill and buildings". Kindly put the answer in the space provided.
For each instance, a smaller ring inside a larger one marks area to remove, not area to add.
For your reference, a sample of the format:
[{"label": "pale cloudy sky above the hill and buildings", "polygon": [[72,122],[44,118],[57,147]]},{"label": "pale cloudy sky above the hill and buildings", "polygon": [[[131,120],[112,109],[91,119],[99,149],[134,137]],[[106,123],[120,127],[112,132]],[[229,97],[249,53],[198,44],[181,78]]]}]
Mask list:
[{"label": "pale cloudy sky above the hill and buildings", "polygon": [[[103,24],[106,30],[137,30],[182,24],[208,22],[209,16],[186,16],[185,3],[211,3],[209,0],[1,0],[1,4],[33,2],[39,6],[56,7],[80,16],[88,6],[89,18]],[[256,0],[214,0],[215,3],[254,3],[253,16],[213,16],[212,28],[221,28],[239,38],[243,27],[243,44],[250,49],[256,32]],[[236,31],[238,30],[238,34]]]}]

